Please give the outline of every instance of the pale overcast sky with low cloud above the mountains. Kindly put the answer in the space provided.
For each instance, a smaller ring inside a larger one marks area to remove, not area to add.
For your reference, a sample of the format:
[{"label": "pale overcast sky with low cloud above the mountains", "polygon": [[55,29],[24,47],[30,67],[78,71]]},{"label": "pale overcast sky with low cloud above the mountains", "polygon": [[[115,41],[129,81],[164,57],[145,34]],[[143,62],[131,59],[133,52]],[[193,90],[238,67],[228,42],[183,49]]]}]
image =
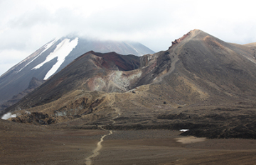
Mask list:
[{"label": "pale overcast sky with low cloud above the mountains", "polygon": [[167,50],[195,28],[226,42],[256,42],[254,1],[0,0],[0,75],[70,33]]}]

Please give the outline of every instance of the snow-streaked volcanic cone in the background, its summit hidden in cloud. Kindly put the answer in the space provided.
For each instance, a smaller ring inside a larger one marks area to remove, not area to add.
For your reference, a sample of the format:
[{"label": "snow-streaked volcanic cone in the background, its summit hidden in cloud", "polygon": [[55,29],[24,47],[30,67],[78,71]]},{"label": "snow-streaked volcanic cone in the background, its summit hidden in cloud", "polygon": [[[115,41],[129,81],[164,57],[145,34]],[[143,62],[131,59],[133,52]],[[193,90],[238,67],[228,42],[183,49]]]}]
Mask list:
[{"label": "snow-streaked volcanic cone in the background, its summit hidden in cloud", "polygon": [[75,58],[91,50],[137,56],[154,53],[138,42],[88,40],[78,37],[52,40],[0,76],[0,104],[27,89],[33,77],[38,80],[49,79]]}]

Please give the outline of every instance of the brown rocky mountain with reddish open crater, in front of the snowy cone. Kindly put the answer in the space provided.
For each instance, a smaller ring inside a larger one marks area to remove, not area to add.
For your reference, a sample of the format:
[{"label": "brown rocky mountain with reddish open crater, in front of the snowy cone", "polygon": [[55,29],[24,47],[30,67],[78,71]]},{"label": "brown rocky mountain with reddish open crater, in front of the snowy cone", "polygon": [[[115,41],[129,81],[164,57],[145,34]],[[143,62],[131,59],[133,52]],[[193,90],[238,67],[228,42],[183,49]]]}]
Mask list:
[{"label": "brown rocky mountain with reddish open crater, in front of the snowy cone", "polygon": [[1,115],[38,125],[255,138],[253,49],[191,30],[153,55],[87,52]]}]

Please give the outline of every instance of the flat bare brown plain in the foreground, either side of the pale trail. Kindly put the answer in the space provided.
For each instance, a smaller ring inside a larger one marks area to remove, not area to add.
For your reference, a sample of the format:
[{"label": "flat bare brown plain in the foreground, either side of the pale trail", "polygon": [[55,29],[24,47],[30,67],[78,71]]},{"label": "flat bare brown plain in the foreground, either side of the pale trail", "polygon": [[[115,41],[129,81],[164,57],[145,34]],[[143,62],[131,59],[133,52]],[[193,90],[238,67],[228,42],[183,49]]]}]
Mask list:
[{"label": "flat bare brown plain in the foreground, either side of the pale trail", "polygon": [[[105,130],[0,130],[0,164],[85,164]],[[256,140],[177,142],[174,130],[114,130],[92,164],[255,164]],[[193,139],[192,139],[193,140]]]}]

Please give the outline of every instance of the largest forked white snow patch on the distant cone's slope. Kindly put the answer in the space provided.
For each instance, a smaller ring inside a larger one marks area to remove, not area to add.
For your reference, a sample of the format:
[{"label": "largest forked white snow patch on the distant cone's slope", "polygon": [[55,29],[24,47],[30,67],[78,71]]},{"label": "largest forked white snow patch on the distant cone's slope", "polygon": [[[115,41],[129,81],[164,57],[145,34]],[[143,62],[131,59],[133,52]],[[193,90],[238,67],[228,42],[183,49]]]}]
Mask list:
[{"label": "largest forked white snow patch on the distant cone's slope", "polygon": [[55,50],[50,53],[46,57],[46,60],[42,62],[41,64],[38,64],[36,67],[33,67],[33,69],[39,69],[43,66],[43,64],[46,64],[46,62],[50,62],[50,60],[57,57],[57,62],[53,65],[53,67],[47,72],[46,76],[44,77],[44,80],[48,79],[50,76],[52,76],[60,67],[61,64],[65,61],[65,57],[67,57],[70,52],[78,45],[78,38],[75,38],[74,40],[70,41],[70,39],[65,39],[62,42],[60,42]]}]

